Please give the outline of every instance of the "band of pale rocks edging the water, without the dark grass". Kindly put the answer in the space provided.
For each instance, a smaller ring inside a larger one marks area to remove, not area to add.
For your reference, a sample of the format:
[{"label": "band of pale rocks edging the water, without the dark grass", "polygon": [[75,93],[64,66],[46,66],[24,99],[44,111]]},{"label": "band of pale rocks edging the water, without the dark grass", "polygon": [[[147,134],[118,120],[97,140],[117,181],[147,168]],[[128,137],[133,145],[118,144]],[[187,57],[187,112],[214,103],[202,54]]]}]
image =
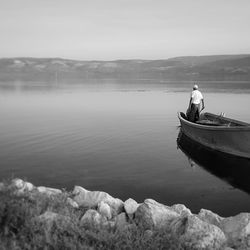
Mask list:
[{"label": "band of pale rocks edging the water, without the dark grass", "polygon": [[[108,193],[89,191],[80,186],[66,192],[35,187],[21,179],[0,183],[0,193],[9,190],[16,197],[25,195],[31,200],[40,194],[46,197],[64,195],[65,206],[70,206],[73,211],[84,208],[77,222],[84,228],[126,231],[136,227],[148,239],[156,231],[167,231],[177,239],[180,246],[178,249],[250,249],[250,213],[223,218],[212,211],[201,209],[198,214],[192,214],[182,204],[167,206],[153,199],[146,199],[143,203],[137,203],[131,198],[122,201]],[[48,230],[54,223],[60,221],[70,225],[72,220],[70,216],[46,209],[32,219],[42,223]]]}]

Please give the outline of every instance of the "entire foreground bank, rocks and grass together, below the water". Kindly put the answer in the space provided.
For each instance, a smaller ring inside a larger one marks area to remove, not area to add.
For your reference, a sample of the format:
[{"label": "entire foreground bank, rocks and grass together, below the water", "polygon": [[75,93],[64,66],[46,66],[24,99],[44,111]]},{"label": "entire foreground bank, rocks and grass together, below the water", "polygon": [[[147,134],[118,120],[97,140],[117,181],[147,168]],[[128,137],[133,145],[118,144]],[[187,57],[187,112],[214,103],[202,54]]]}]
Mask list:
[{"label": "entire foreground bank, rocks and grass together, below the water", "polygon": [[80,186],[0,183],[1,249],[250,249],[250,213],[223,218]]}]

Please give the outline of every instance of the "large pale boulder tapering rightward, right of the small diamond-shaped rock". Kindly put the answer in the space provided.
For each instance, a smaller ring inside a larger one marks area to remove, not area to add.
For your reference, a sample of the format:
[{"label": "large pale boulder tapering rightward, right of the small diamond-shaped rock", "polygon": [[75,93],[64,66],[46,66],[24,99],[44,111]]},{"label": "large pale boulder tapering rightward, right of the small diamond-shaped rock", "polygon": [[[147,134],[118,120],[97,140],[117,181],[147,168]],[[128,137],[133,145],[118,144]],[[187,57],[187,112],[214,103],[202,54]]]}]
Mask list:
[{"label": "large pale boulder tapering rightward, right of the small diamond-shaped rock", "polygon": [[180,215],[163,204],[152,199],[147,199],[141,204],[135,213],[138,225],[145,229],[167,227],[170,222]]}]

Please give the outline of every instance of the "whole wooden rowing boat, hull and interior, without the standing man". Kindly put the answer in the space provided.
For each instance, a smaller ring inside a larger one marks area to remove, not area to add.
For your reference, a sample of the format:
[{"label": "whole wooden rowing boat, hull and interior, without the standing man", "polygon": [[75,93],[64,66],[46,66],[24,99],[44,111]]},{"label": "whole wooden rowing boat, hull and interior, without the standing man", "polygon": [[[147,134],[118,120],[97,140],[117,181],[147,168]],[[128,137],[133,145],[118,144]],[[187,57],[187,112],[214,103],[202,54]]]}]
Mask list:
[{"label": "whole wooden rowing boat, hull and interior, without the standing man", "polygon": [[211,113],[196,123],[179,112],[182,132],[200,144],[224,153],[250,158],[250,124]]}]

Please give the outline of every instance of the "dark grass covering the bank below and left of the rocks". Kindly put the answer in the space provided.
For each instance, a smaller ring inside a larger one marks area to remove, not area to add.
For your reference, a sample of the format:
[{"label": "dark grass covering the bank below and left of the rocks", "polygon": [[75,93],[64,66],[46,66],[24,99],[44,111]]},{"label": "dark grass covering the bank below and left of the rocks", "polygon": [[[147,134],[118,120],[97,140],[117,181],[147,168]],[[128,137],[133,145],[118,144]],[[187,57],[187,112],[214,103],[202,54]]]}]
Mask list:
[{"label": "dark grass covering the bank below and left of the rocks", "polygon": [[[149,237],[135,224],[127,230],[83,227],[79,222],[86,209],[68,205],[68,195],[0,191],[0,249],[182,249],[168,232]],[[70,223],[47,227],[35,219],[46,211],[67,216]]]}]

